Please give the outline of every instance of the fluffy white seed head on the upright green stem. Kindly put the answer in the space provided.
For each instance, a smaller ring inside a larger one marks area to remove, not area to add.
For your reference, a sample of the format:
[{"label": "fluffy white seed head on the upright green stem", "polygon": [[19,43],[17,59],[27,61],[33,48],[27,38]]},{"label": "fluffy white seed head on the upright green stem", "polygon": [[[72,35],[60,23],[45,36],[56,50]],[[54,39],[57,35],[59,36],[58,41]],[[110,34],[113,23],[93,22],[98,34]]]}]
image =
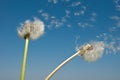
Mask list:
[{"label": "fluffy white seed head on the upright green stem", "polygon": [[30,38],[32,40],[39,38],[44,34],[44,23],[39,19],[34,19],[33,22],[26,20],[24,24],[18,28],[18,35],[22,38]]}]

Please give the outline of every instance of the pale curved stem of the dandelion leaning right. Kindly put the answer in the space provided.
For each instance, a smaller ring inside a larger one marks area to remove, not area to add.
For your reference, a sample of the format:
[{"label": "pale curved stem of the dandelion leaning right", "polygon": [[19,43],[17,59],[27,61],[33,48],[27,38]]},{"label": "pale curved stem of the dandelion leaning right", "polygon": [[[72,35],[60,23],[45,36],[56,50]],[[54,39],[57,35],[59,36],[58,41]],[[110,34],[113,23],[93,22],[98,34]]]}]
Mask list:
[{"label": "pale curved stem of the dandelion leaning right", "polygon": [[66,59],[65,61],[63,61],[57,68],[55,68],[55,69],[45,78],[45,80],[50,80],[50,78],[51,78],[62,66],[64,66],[66,63],[68,63],[70,60],[72,60],[74,57],[76,57],[79,53],[80,53],[80,51],[78,51],[77,53],[73,54],[71,57],[69,57],[69,58]]}]

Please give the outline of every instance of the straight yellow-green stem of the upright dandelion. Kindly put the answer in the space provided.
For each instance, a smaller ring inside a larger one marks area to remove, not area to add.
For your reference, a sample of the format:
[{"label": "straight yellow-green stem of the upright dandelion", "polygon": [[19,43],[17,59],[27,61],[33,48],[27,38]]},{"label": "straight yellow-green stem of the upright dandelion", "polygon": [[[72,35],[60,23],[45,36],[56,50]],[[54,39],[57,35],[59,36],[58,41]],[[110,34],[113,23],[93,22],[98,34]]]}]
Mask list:
[{"label": "straight yellow-green stem of the upright dandelion", "polygon": [[28,53],[28,44],[29,44],[29,38],[26,38],[20,80],[24,80],[25,79],[26,60],[27,60],[27,53]]}]

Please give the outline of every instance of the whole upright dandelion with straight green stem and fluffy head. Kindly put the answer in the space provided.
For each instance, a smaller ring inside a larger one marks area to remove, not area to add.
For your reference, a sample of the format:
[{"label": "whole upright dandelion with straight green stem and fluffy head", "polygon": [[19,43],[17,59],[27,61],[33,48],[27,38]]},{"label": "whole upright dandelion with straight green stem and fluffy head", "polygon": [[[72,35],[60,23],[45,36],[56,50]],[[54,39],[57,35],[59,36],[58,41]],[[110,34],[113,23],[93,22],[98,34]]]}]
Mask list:
[{"label": "whole upright dandelion with straight green stem and fluffy head", "polygon": [[25,23],[22,24],[20,28],[18,28],[18,35],[26,40],[20,80],[24,80],[25,78],[29,39],[35,40],[40,36],[42,36],[43,34],[44,34],[44,23],[36,18],[34,19],[33,22],[31,22],[30,20],[25,21]]}]

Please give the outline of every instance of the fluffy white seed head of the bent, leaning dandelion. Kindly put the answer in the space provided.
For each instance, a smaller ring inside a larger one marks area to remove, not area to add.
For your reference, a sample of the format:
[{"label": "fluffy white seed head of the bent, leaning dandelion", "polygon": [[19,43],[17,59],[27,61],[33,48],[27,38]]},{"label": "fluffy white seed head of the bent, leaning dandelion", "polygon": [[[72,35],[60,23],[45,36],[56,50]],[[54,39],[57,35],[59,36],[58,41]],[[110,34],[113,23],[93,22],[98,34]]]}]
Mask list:
[{"label": "fluffy white seed head of the bent, leaning dandelion", "polygon": [[83,46],[80,49],[81,50],[80,56],[88,62],[94,62],[97,59],[99,59],[104,51],[103,42],[91,42],[89,46],[87,48],[86,47],[87,45],[85,47]]}]

